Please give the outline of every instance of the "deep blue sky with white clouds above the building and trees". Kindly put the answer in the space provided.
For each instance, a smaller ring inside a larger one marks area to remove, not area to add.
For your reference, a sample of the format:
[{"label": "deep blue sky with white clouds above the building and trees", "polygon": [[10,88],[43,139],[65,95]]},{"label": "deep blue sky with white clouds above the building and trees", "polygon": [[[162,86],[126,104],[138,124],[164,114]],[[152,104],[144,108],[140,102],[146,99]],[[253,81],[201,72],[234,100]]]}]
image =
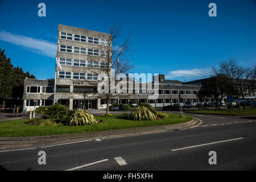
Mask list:
[{"label": "deep blue sky with white clouds above the building and trees", "polygon": [[[46,4],[46,17],[38,4]],[[209,17],[208,5],[217,5]],[[256,63],[256,1],[1,1],[0,48],[14,66],[54,78],[57,24],[109,32],[114,22],[132,33],[135,73],[190,81],[229,58]]]}]

